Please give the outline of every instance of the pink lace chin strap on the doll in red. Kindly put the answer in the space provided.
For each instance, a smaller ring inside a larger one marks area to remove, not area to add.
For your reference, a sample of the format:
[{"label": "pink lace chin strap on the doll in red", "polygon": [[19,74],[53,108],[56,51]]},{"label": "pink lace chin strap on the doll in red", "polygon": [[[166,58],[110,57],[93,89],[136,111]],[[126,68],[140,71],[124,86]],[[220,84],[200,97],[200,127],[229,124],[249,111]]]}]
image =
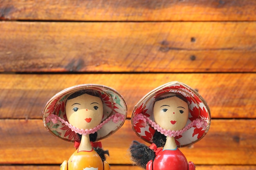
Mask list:
[{"label": "pink lace chin strap on the doll in red", "polygon": [[155,130],[157,130],[164,136],[169,136],[169,137],[176,137],[176,136],[182,135],[182,133],[184,133],[186,130],[189,130],[193,126],[196,126],[196,128],[204,128],[204,129],[207,126],[207,121],[197,118],[193,120],[190,124],[188,124],[186,127],[184,127],[182,130],[175,131],[175,130],[166,130],[161,128],[158,124],[150,120],[148,117],[146,117],[142,113],[140,113],[139,115],[133,118],[133,122],[137,122],[139,120],[144,121],[145,125],[146,125],[146,122],[148,122],[148,124],[150,124]]}]

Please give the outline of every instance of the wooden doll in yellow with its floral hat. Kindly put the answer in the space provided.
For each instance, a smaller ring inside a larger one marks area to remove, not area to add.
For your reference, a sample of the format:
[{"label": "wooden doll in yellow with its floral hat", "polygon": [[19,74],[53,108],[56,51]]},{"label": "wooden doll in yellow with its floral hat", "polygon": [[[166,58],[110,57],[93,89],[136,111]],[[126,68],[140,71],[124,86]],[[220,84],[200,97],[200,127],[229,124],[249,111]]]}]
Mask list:
[{"label": "wooden doll in yellow with its floral hat", "polygon": [[43,122],[52,135],[75,143],[76,151],[61,170],[109,170],[108,150],[100,139],[116,132],[125,121],[126,103],[114,89],[81,84],[57,93],[43,110]]}]

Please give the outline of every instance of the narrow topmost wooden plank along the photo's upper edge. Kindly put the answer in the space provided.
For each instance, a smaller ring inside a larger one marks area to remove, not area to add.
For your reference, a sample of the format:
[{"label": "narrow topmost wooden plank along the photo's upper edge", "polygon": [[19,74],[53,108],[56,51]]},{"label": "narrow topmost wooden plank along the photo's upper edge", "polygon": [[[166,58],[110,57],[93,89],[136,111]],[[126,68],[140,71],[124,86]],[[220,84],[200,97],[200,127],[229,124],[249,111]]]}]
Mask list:
[{"label": "narrow topmost wooden plank along the photo's upper edge", "polygon": [[254,0],[1,0],[2,20],[249,21]]}]

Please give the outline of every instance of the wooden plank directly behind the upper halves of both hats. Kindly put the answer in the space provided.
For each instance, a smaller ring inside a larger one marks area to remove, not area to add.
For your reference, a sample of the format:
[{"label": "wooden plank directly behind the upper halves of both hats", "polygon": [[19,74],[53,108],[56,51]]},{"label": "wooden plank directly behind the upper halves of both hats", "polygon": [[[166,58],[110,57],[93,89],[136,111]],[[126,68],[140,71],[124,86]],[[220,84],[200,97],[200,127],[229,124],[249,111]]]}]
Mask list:
[{"label": "wooden plank directly behind the upper halves of both hats", "polygon": [[103,84],[121,95],[128,117],[139,100],[154,88],[180,81],[207,101],[213,118],[256,118],[256,74],[0,74],[0,118],[41,119],[47,101],[77,84]]}]

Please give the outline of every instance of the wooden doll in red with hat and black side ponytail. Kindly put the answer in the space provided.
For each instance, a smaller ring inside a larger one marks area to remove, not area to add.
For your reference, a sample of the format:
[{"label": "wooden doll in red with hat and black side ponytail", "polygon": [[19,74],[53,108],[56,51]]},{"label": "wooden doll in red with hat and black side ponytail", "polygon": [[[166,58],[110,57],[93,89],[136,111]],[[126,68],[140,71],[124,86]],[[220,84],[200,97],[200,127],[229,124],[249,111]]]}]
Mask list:
[{"label": "wooden doll in red with hat and black side ponytail", "polygon": [[195,170],[179,150],[199,141],[209,130],[211,115],[191,87],[169,82],[145,95],[132,112],[132,128],[146,146],[133,141],[132,160],[146,170]]}]

